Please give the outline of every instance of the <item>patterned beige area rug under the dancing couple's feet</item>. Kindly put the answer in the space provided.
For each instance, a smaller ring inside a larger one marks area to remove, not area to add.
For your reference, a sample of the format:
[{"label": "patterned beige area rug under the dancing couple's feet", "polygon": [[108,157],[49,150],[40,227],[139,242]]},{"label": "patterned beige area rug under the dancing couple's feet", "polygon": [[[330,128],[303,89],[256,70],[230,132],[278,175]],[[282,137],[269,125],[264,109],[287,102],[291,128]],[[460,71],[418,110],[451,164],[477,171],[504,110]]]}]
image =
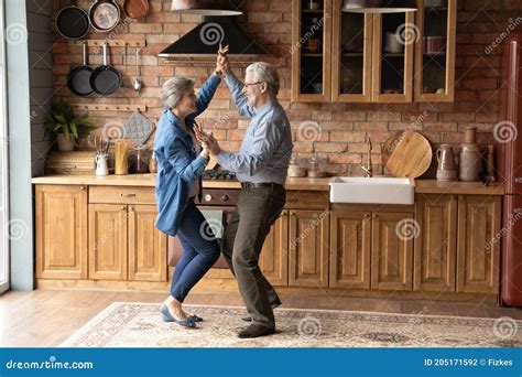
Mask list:
[{"label": "patterned beige area rug under the dancing couple's feet", "polygon": [[160,304],[115,302],[64,347],[521,347],[522,321],[445,315],[278,309],[278,333],[240,340],[243,308],[186,305],[204,317],[182,328]]}]

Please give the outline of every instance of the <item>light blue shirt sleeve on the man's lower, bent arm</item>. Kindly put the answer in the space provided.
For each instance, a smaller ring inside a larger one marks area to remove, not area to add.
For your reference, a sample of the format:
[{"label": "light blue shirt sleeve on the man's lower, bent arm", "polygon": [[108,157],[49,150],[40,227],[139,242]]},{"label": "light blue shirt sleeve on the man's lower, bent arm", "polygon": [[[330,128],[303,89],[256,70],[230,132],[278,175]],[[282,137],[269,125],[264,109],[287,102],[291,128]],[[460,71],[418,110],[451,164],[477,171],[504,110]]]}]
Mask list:
[{"label": "light blue shirt sleeve on the man's lower, bent arm", "polygon": [[282,140],[282,127],[274,122],[260,123],[249,143],[248,151],[237,154],[220,151],[217,155],[218,163],[236,173],[253,175],[262,171],[267,161],[274,153]]}]

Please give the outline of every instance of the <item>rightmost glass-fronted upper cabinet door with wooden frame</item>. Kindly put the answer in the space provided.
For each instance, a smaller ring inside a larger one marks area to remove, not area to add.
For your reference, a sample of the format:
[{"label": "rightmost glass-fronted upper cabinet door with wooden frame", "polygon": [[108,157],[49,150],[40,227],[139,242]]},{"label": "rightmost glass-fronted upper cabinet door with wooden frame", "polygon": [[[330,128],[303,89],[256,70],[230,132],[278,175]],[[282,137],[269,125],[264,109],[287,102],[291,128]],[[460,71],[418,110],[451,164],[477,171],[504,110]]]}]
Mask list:
[{"label": "rightmost glass-fronted upper cabinet door with wooden frame", "polygon": [[[426,6],[418,0],[415,14],[415,101],[452,103],[455,91],[457,0],[447,6]],[[426,40],[425,40],[426,39]]]}]

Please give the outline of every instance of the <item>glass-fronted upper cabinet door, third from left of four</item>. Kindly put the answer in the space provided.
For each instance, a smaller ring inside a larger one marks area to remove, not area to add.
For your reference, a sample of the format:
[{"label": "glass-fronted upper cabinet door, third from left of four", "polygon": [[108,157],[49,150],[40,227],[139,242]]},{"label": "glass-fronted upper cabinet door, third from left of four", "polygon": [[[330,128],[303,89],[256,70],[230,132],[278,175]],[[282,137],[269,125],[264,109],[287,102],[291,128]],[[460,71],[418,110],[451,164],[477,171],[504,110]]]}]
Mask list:
[{"label": "glass-fronted upper cabinet door, third from left of four", "polygon": [[373,15],[372,100],[411,103],[413,50],[416,39],[414,12]]}]

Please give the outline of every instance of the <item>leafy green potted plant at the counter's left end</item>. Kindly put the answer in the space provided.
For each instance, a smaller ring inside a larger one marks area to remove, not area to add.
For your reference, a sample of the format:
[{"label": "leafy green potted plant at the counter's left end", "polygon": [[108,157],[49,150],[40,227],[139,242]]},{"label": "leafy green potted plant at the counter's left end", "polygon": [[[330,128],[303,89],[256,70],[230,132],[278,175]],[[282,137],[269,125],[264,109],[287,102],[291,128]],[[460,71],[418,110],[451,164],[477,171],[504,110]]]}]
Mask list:
[{"label": "leafy green potted plant at the counter's left end", "polygon": [[90,122],[88,116],[77,116],[69,104],[59,101],[53,105],[45,118],[45,128],[56,134],[59,151],[73,151],[77,146],[76,140],[94,129]]}]

